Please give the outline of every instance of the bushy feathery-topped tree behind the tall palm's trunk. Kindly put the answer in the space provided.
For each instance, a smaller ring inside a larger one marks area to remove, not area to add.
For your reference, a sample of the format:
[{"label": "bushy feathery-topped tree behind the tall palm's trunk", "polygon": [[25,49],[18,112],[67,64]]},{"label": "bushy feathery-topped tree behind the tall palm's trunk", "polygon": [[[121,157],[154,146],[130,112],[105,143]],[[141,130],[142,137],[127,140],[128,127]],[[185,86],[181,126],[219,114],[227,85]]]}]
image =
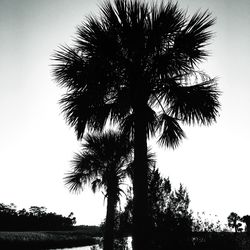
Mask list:
[{"label": "bushy feathery-topped tree behind the tall palm's trunk", "polygon": [[[180,185],[171,190],[169,178],[161,177],[156,167],[149,171],[149,217],[150,249],[187,249],[191,244],[192,214],[189,211],[189,196]],[[131,234],[132,192],[129,189],[124,210],[118,215],[120,235]]]}]

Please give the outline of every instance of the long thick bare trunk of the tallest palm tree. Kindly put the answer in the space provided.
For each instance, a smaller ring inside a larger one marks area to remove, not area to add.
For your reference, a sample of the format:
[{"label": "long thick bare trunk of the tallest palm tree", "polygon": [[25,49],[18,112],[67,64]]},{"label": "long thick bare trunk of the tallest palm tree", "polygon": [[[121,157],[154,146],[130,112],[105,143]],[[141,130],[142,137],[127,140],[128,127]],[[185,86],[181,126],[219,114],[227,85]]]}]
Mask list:
[{"label": "long thick bare trunk of the tallest palm tree", "polygon": [[149,249],[147,136],[144,112],[135,112],[133,249]]}]

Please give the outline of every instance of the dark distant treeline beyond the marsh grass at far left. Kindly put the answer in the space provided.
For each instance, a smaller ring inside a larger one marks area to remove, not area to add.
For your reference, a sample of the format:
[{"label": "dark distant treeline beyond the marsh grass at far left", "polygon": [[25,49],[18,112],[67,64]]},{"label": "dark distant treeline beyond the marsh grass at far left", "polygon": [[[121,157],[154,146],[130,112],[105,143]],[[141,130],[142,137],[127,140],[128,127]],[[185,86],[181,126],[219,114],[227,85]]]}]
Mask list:
[{"label": "dark distant treeline beyond the marsh grass at far left", "polygon": [[47,212],[45,207],[31,206],[17,210],[15,204],[0,203],[0,231],[69,230],[76,223],[73,213],[65,217]]}]

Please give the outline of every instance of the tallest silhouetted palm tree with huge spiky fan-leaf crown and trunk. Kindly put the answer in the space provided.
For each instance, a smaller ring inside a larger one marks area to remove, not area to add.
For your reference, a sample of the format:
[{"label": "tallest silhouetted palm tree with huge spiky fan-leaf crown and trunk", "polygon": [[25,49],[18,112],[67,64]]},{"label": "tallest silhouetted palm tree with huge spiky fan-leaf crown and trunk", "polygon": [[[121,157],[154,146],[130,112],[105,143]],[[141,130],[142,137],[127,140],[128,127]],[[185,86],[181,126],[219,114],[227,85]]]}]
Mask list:
[{"label": "tallest silhouetted palm tree with huge spiky fan-leaf crown and trunk", "polygon": [[110,122],[134,141],[136,250],[149,246],[147,139],[175,148],[185,137],[180,123],[209,125],[218,115],[216,79],[198,70],[214,21],[208,11],[189,17],[171,2],[114,0],[54,55],[55,79],[67,89],[62,110],[78,139]]}]

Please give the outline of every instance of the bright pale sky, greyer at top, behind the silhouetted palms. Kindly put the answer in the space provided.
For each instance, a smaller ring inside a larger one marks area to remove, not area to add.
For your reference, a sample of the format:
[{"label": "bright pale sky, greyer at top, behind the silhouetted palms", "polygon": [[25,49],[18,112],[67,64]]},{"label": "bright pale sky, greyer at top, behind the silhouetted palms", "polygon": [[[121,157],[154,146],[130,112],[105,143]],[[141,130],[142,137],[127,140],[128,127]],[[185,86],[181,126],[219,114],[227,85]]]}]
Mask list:
[{"label": "bright pale sky, greyer at top, behind the silhouetted palms", "polygon": [[[68,215],[78,224],[99,224],[103,195],[68,192],[63,176],[79,142],[60,114],[64,93],[52,79],[50,60],[70,43],[75,27],[96,13],[97,0],[0,0],[0,202],[32,205]],[[250,2],[180,0],[188,13],[209,9],[217,23],[201,66],[219,77],[218,122],[187,127],[176,150],[154,147],[158,167],[175,187],[187,187],[191,208],[217,214],[250,214]]]}]

